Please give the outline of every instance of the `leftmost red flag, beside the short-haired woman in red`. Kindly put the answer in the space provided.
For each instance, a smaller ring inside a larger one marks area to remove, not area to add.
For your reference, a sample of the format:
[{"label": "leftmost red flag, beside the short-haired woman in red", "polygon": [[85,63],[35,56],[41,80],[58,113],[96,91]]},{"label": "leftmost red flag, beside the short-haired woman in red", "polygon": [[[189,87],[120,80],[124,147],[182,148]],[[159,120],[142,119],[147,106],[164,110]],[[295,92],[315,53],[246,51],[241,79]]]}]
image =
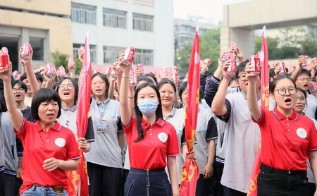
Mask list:
[{"label": "leftmost red flag, beside the short-haired woman in red", "polygon": [[[85,40],[85,57],[80,72],[80,85],[78,92],[78,109],[77,109],[77,135],[85,137],[88,125],[88,113],[90,105],[90,95],[92,92],[92,69],[90,61],[89,49],[89,32]],[[88,196],[88,176],[87,165],[84,157],[83,149],[80,150],[80,164],[76,171],[71,171],[68,176],[68,195],[69,196]]]}]

